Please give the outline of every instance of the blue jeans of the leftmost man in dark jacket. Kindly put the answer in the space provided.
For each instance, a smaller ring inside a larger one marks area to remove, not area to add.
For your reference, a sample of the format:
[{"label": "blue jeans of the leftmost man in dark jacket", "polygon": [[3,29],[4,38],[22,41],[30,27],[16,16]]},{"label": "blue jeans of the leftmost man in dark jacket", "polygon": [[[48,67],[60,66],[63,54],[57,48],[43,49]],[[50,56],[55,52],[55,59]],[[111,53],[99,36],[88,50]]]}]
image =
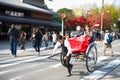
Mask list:
[{"label": "blue jeans of the leftmost man in dark jacket", "polygon": [[10,47],[11,47],[11,53],[12,55],[16,55],[17,52],[17,39],[11,38],[10,39]]}]

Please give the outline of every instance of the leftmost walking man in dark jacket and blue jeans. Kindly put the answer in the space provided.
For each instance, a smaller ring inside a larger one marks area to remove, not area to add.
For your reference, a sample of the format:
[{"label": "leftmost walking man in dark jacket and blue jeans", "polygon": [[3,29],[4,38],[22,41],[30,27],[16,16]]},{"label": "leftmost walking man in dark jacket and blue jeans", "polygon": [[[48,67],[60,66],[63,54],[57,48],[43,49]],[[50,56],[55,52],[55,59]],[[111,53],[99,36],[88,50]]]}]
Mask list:
[{"label": "leftmost walking man in dark jacket and blue jeans", "polygon": [[8,30],[8,35],[9,35],[9,39],[10,39],[10,50],[11,50],[11,54],[16,57],[16,53],[17,53],[17,43],[18,43],[18,39],[19,39],[19,31],[15,28],[15,24],[11,25],[11,28]]}]

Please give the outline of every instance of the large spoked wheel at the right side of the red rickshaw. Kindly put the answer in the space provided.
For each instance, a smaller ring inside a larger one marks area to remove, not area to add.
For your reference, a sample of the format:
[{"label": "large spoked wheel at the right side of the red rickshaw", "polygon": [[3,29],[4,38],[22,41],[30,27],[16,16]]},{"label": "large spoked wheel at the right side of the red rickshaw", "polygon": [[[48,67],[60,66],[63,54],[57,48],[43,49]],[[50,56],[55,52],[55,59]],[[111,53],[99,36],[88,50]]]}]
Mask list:
[{"label": "large spoked wheel at the right side of the red rickshaw", "polygon": [[92,45],[86,53],[86,68],[89,72],[93,72],[96,67],[97,62],[97,48],[95,45]]}]

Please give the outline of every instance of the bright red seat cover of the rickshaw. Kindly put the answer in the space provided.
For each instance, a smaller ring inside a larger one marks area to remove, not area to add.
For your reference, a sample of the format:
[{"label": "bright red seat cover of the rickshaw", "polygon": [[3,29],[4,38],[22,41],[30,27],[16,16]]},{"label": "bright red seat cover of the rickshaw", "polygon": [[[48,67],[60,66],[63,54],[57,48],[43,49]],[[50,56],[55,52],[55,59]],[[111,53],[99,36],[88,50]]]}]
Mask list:
[{"label": "bright red seat cover of the rickshaw", "polygon": [[82,35],[80,37],[69,38],[68,41],[70,42],[72,52],[76,53],[85,52],[91,39],[89,36]]}]

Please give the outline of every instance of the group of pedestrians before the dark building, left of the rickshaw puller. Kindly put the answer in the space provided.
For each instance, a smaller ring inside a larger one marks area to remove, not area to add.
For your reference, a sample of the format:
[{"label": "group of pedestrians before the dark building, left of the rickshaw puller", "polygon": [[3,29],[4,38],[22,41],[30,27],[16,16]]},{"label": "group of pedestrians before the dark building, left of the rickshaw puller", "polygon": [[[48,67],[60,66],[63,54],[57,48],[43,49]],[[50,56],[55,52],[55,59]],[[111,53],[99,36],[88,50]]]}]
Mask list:
[{"label": "group of pedestrians before the dark building, left of the rickshaw puller", "polygon": [[[15,57],[17,57],[17,45],[19,45],[21,50],[25,50],[25,44],[26,44],[26,37],[27,34],[25,31],[18,30],[16,28],[16,24],[12,24],[11,28],[8,30],[9,35],[9,41],[10,41],[10,50],[11,54]],[[40,55],[40,47],[49,46],[49,42],[53,43],[53,46],[55,46],[57,41],[57,33],[55,31],[52,31],[51,34],[48,31],[42,32],[40,28],[33,28],[30,41],[32,43],[32,47],[35,49],[36,52],[38,52],[38,55]],[[44,43],[44,44],[43,44]]]}]

